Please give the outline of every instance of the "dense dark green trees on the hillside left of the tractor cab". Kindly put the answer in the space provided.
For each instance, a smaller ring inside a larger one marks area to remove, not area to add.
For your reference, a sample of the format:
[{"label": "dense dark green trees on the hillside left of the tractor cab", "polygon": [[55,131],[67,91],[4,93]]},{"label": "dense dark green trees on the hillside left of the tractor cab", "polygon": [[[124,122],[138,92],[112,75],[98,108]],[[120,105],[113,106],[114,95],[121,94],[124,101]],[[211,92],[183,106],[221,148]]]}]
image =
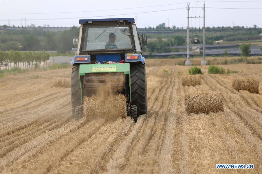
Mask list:
[{"label": "dense dark green trees on the hillside left of the tractor cab", "polygon": [[72,49],[73,37],[78,37],[79,27],[71,27],[66,31],[44,31],[34,28],[32,31],[21,30],[0,31],[0,47],[3,51],[58,51],[65,53]]}]

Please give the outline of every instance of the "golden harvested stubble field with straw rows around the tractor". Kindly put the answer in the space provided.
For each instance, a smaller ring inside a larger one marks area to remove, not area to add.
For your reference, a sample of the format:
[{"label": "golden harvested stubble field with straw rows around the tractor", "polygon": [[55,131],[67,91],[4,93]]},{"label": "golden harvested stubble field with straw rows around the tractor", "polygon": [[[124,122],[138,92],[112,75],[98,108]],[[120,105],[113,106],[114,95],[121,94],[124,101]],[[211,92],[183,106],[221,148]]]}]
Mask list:
[{"label": "golden harvested stubble field with straw rows around the tractor", "polygon": [[[137,123],[71,119],[70,88],[50,88],[53,78],[70,78],[70,68],[1,78],[0,173],[261,173],[260,64],[221,65],[241,72],[228,75],[208,75],[208,66],[198,66],[202,84],[193,87],[181,82],[190,66],[147,61],[149,113]],[[258,79],[259,93],[236,91],[236,78]],[[221,92],[224,112],[187,114],[186,95],[199,91]]]}]

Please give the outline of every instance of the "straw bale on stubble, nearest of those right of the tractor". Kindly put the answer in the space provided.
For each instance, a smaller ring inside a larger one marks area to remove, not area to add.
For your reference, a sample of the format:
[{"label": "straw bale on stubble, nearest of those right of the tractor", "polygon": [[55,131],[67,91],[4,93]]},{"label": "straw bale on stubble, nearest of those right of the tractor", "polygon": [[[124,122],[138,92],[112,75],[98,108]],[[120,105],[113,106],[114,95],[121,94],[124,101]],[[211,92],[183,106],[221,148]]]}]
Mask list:
[{"label": "straw bale on stubble, nearest of those right of the tractor", "polygon": [[224,111],[224,98],[219,91],[200,91],[185,95],[185,106],[187,114]]}]

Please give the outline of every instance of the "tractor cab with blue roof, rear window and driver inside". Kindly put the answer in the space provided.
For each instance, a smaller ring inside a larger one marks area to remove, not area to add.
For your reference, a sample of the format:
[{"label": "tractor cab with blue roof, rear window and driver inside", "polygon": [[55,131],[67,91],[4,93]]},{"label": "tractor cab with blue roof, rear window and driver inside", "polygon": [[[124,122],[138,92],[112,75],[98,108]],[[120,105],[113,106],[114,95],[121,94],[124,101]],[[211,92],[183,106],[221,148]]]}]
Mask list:
[{"label": "tractor cab with blue roof, rear window and driver inside", "polygon": [[[81,58],[81,55],[90,55],[90,64],[126,62],[126,54],[142,56],[134,22],[134,18],[80,19],[79,37],[73,38],[73,48],[77,48],[76,56]],[[141,37],[142,43],[147,44],[146,35]],[[74,63],[77,62],[71,64]]]}]

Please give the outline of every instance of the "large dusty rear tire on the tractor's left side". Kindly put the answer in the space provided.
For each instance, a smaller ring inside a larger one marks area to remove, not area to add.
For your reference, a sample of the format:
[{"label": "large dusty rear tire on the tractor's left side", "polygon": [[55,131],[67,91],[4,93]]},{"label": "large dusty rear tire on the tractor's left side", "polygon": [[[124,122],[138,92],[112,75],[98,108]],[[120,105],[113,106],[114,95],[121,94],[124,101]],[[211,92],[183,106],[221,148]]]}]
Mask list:
[{"label": "large dusty rear tire on the tractor's left side", "polygon": [[75,107],[82,105],[81,92],[82,91],[80,88],[79,65],[75,65],[72,68],[71,75],[71,103],[73,116],[75,116]]}]

